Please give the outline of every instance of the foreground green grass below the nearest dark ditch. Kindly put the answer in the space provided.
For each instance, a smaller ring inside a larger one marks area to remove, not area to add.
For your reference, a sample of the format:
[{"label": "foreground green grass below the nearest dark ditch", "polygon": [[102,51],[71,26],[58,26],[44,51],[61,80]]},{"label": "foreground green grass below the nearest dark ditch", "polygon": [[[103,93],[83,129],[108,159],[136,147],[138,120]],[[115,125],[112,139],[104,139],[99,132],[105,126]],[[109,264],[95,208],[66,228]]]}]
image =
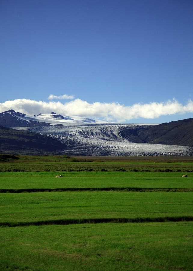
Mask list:
[{"label": "foreground green grass below the nearest dark ditch", "polygon": [[193,222],[0,228],[1,270],[192,270]]}]

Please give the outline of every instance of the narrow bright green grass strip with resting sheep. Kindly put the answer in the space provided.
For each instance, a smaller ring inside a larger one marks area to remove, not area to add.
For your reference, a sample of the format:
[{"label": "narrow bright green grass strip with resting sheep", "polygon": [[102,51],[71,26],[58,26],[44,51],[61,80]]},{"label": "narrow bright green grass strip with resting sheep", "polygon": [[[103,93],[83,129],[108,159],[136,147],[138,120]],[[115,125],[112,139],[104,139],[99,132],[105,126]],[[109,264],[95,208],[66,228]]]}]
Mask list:
[{"label": "narrow bright green grass strip with resting sheep", "polygon": [[[62,174],[62,178],[55,176]],[[181,172],[1,172],[0,189],[143,187],[192,188],[193,173]]]}]

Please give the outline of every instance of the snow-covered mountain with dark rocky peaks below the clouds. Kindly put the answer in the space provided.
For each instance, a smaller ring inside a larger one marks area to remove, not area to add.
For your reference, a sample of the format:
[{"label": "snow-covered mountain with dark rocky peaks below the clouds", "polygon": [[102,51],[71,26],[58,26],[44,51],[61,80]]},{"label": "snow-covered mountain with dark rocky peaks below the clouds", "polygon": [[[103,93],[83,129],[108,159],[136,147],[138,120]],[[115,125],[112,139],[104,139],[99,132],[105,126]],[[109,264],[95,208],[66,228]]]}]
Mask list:
[{"label": "snow-covered mountain with dark rocky peaks below the clouds", "polygon": [[38,114],[29,116],[14,110],[0,113],[0,125],[4,127],[31,127],[31,126],[63,126],[77,125],[84,123],[105,123],[100,120],[92,120],[89,118],[78,116],[62,116],[51,112],[51,114]]}]

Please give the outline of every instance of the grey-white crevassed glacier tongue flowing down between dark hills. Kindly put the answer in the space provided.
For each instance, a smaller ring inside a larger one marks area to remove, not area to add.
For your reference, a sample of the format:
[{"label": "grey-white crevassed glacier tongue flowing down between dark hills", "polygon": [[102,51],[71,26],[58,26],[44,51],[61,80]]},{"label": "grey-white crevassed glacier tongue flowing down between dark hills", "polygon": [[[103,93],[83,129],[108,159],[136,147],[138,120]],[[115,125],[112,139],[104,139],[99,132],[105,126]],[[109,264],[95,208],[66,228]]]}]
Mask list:
[{"label": "grey-white crevassed glacier tongue flowing down between dark hills", "polygon": [[[188,146],[129,142],[120,135],[124,124],[87,124],[76,126],[34,126],[17,129],[51,136],[65,144],[69,155],[192,155]],[[132,126],[132,125],[131,125]]]}]

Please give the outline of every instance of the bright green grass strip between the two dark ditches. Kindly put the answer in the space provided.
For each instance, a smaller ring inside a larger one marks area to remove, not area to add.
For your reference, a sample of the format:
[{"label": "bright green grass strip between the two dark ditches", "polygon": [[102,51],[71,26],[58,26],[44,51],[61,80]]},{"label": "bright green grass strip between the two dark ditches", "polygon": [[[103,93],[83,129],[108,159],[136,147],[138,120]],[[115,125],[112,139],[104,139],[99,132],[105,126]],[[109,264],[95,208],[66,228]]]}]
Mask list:
[{"label": "bright green grass strip between the two dark ditches", "polygon": [[192,204],[193,192],[4,193],[0,222],[193,216]]}]

